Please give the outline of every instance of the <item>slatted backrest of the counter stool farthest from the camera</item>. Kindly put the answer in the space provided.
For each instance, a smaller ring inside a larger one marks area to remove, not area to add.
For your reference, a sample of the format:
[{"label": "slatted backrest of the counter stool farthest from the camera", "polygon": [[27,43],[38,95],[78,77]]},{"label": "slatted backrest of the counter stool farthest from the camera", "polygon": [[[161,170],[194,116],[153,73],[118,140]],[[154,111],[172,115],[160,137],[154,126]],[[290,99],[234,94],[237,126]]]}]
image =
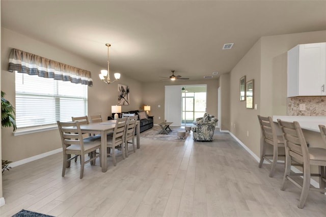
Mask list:
[{"label": "slatted backrest of the counter stool farthest from the camera", "polygon": [[271,117],[263,117],[258,115],[261,134],[266,143],[277,145],[277,133]]}]

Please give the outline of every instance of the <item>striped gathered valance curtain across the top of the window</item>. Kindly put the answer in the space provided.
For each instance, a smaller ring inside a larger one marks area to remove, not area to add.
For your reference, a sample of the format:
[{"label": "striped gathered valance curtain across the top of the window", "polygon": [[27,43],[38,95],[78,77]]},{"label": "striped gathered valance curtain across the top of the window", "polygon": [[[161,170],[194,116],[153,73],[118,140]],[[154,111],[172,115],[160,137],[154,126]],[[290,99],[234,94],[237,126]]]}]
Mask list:
[{"label": "striped gathered valance curtain across the top of the window", "polygon": [[92,86],[91,72],[13,48],[8,71]]}]

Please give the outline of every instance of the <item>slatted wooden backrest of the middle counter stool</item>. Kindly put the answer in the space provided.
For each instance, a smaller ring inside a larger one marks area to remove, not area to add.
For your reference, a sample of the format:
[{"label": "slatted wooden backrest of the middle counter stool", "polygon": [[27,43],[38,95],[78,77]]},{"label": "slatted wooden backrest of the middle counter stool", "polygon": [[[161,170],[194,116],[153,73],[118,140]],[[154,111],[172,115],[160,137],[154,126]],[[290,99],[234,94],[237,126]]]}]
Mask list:
[{"label": "slatted wooden backrest of the middle counter stool", "polygon": [[286,151],[295,159],[309,164],[308,146],[300,124],[297,121],[287,122],[280,119],[277,121],[283,132]]}]

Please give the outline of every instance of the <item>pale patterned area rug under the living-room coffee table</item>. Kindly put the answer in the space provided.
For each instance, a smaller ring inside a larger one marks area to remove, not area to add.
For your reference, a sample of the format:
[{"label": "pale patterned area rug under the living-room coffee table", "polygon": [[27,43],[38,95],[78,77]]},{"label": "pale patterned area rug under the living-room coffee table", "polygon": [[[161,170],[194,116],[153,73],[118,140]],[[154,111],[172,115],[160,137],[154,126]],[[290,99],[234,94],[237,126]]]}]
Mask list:
[{"label": "pale patterned area rug under the living-room coffee table", "polygon": [[179,140],[177,132],[179,130],[185,131],[184,128],[172,127],[172,126],[170,126],[170,128],[172,129],[172,132],[170,132],[169,134],[158,134],[160,132],[160,130],[161,130],[161,127],[160,126],[153,126],[153,128],[142,132],[141,133],[141,138],[150,139],[150,140],[163,140],[163,141],[179,141],[179,142],[182,142],[190,134],[189,132],[186,132],[185,133],[185,138]]}]

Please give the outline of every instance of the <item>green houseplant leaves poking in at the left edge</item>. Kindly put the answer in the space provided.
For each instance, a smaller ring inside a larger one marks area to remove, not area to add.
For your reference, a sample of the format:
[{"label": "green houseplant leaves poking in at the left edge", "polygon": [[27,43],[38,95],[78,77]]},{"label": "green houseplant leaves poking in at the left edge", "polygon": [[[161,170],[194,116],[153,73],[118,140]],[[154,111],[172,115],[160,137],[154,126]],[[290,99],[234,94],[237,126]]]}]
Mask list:
[{"label": "green houseplant leaves poking in at the left edge", "polygon": [[[16,130],[16,121],[15,121],[15,108],[12,104],[4,98],[5,92],[1,91],[1,126],[2,127],[13,127],[13,131]],[[6,170],[9,170],[11,167],[9,164],[11,161],[2,160],[2,173]]]}]

